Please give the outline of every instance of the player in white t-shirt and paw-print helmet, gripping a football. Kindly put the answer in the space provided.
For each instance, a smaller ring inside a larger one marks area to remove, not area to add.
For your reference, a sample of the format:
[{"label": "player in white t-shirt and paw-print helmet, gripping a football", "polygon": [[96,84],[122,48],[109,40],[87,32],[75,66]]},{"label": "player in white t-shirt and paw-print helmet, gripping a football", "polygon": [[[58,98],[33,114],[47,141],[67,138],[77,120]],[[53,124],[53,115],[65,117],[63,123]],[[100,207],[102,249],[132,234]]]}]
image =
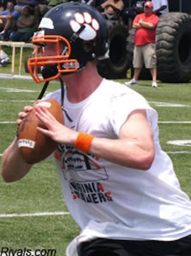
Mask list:
[{"label": "player in white t-shirt and paw-print helmet, gripping a football", "polygon": [[[66,256],[190,256],[191,202],[160,147],[156,110],[97,72],[97,61],[108,56],[108,32],[106,19],[88,4],[48,11],[33,36],[39,49],[29,65],[34,80],[60,81],[62,89],[43,99],[62,105],[64,124],[38,104],[25,106],[17,123],[35,109],[46,127],[38,132],[57,142],[62,192],[81,228]],[[15,137],[3,153],[6,182],[32,168],[18,145]]]}]

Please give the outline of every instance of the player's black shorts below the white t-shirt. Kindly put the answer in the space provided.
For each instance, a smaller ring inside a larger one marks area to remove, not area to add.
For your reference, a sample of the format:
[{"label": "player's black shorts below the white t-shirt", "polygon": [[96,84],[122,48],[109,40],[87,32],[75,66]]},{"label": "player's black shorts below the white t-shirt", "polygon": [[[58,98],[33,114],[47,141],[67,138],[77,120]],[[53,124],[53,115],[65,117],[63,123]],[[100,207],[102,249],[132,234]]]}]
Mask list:
[{"label": "player's black shorts below the white t-shirt", "polygon": [[191,235],[176,241],[95,239],[81,243],[79,256],[190,256]]}]

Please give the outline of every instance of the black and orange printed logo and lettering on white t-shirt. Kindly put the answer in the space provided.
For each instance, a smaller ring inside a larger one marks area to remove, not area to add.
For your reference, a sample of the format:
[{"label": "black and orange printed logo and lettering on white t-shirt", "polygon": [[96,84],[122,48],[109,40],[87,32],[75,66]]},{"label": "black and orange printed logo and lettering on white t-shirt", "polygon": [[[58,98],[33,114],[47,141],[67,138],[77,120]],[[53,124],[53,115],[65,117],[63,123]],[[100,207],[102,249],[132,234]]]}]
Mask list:
[{"label": "black and orange printed logo and lettering on white t-shirt", "polygon": [[108,174],[99,165],[97,156],[61,145],[54,156],[60,162],[62,175],[69,183],[74,200],[81,199],[94,204],[113,200],[111,192],[104,188],[103,181],[108,180]]}]

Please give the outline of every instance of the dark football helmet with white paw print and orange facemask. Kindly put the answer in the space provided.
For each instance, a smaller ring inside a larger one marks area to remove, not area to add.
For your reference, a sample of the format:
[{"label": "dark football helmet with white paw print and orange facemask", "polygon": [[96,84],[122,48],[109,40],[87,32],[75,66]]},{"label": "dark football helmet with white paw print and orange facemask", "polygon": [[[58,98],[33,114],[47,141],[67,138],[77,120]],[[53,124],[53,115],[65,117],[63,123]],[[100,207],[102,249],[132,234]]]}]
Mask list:
[{"label": "dark football helmet with white paw print and orange facemask", "polygon": [[[34,57],[28,60],[29,72],[36,82],[45,82],[78,72],[88,61],[106,57],[108,26],[94,7],[78,2],[63,3],[41,19],[32,43],[36,48]],[[48,56],[50,44],[55,50]]]}]

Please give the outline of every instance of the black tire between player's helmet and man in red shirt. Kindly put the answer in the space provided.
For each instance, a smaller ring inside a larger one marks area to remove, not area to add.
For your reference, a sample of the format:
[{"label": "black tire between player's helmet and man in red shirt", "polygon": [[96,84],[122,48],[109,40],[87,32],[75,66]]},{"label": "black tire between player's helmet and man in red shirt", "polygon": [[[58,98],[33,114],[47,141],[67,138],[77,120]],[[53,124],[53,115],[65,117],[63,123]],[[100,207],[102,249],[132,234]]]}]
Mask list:
[{"label": "black tire between player's helmet and man in red shirt", "polygon": [[119,20],[107,20],[110,36],[110,58],[99,61],[97,69],[106,79],[126,78],[132,59],[126,52],[127,27]]}]

